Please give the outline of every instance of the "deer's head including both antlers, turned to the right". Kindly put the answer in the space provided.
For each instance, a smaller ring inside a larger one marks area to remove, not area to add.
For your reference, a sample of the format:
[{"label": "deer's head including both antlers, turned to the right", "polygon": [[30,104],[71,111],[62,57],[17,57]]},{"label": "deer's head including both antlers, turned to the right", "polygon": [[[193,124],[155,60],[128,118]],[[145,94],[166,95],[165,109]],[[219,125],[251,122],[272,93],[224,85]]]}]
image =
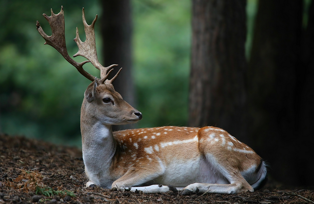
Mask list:
[{"label": "deer's head including both antlers, turned to the right", "polygon": [[[41,28],[37,21],[36,26],[38,32],[46,40],[45,44],[51,45],[55,48],[70,64],[72,64],[83,76],[93,81],[87,87],[81,109],[81,120],[87,120],[88,115],[93,115],[95,121],[99,121],[104,125],[123,125],[127,123],[134,123],[142,119],[142,114],[124,101],[121,95],[115,91],[112,82],[116,79],[121,69],[112,79],[107,79],[113,66],[102,66],[97,57],[96,41],[94,26],[98,18],[96,15],[91,25],[88,25],[85,20],[84,8],[82,10],[84,30],[86,33],[86,41],[82,42],[79,38],[78,28],[76,28],[76,38],[74,41],[78,45],[78,52],[73,55],[83,56],[87,61],[78,63],[74,61],[69,55],[65,43],[64,30],[64,13],[63,7],[58,14],[54,14],[51,9],[51,16],[43,14],[50,24],[52,34],[48,36]],[[100,70],[100,79],[92,76],[83,69],[83,65],[91,62],[95,68]]]}]

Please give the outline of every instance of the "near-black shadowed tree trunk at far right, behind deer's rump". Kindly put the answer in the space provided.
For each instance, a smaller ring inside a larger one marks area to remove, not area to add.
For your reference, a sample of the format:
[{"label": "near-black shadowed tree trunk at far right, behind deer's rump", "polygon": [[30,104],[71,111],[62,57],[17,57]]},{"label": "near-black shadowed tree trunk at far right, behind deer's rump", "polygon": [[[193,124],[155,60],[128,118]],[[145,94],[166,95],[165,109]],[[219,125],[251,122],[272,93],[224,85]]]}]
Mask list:
[{"label": "near-black shadowed tree trunk at far right, behind deer's rump", "polygon": [[314,181],[313,162],[307,164],[313,160],[309,158],[313,151],[305,147],[306,140],[313,144],[313,131],[309,131],[313,130],[313,103],[307,99],[314,88],[313,41],[309,41],[313,31],[304,43],[311,47],[305,63],[302,3],[259,1],[247,77],[252,147],[270,164],[271,177],[289,185],[313,185]]}]

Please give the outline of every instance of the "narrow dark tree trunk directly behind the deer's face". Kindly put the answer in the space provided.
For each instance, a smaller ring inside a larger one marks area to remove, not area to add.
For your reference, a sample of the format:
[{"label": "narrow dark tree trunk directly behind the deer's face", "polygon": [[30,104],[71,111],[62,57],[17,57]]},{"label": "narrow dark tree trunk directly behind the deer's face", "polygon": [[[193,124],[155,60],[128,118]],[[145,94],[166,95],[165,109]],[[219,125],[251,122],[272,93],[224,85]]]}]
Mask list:
[{"label": "narrow dark tree trunk directly behind the deer's face", "polygon": [[[119,64],[114,74],[122,67],[119,76],[113,82],[115,90],[133,107],[135,106],[132,79],[132,18],[129,0],[102,2],[102,38],[105,65]],[[114,76],[113,74],[111,76]],[[134,107],[136,108],[136,107]],[[114,130],[128,129],[132,125],[119,125]]]}]

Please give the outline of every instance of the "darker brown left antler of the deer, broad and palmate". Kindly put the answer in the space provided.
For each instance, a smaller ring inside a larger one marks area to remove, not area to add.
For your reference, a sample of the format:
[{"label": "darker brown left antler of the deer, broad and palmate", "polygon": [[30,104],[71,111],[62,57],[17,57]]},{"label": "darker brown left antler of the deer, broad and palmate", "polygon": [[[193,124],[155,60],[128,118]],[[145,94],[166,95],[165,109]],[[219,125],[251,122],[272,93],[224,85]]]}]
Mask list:
[{"label": "darker brown left antler of the deer, broad and palmate", "polygon": [[43,16],[48,21],[52,34],[51,36],[48,36],[43,29],[41,28],[39,22],[37,21],[36,27],[38,32],[41,34],[41,36],[45,39],[44,44],[48,44],[55,48],[63,57],[66,59],[70,64],[72,64],[78,71],[81,73],[84,77],[87,79],[94,81],[95,77],[89,73],[87,73],[83,69],[83,65],[88,61],[84,61],[81,63],[78,63],[74,61],[68,54],[67,46],[65,43],[65,30],[64,30],[64,13],[63,13],[63,7],[61,6],[61,11],[58,14],[54,14],[51,9],[51,16],[47,16],[45,13]]}]

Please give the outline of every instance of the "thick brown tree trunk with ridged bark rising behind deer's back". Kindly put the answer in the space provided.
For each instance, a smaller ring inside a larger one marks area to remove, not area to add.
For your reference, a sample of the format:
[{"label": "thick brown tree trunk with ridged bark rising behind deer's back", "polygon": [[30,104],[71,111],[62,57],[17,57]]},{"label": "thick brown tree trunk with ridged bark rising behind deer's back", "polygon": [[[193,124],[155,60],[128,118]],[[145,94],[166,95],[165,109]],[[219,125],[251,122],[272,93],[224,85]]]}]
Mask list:
[{"label": "thick brown tree trunk with ridged bark rising behind deer's back", "polygon": [[245,0],[192,1],[189,125],[246,141]]}]

